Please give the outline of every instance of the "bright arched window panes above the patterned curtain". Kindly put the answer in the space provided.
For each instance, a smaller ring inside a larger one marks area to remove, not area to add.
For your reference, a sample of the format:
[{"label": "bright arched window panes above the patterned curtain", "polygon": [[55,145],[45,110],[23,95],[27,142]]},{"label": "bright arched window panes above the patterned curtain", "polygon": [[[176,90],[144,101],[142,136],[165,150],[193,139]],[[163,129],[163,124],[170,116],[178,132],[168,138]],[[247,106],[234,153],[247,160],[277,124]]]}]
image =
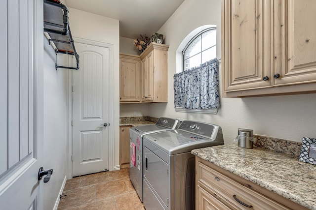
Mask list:
[{"label": "bright arched window panes above the patterned curtain", "polygon": [[216,27],[200,31],[188,42],[182,55],[183,71],[216,58]]}]

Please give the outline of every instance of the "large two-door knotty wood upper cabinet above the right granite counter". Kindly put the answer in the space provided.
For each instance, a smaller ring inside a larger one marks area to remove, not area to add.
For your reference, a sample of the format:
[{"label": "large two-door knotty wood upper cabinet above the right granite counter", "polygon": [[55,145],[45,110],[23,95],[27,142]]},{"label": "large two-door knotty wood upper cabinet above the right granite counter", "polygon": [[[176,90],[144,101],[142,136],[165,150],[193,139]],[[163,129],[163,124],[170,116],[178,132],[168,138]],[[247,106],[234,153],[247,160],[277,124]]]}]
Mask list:
[{"label": "large two-door knotty wood upper cabinet above the right granite counter", "polygon": [[223,0],[222,7],[223,97],[316,92],[316,1]]}]

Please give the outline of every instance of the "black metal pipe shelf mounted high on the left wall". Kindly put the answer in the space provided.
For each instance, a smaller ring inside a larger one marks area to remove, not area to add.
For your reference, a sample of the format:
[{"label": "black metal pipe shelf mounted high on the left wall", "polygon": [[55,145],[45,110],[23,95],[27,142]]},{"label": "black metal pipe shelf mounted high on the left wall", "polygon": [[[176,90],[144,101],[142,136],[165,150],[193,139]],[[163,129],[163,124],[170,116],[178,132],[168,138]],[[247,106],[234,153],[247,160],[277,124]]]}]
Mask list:
[{"label": "black metal pipe shelf mounted high on the left wall", "polygon": [[75,56],[76,67],[59,66],[55,68],[79,69],[79,55],[76,52],[74,39],[69,27],[68,8],[59,0],[44,0],[44,32],[49,35],[48,42],[56,46],[55,53]]}]

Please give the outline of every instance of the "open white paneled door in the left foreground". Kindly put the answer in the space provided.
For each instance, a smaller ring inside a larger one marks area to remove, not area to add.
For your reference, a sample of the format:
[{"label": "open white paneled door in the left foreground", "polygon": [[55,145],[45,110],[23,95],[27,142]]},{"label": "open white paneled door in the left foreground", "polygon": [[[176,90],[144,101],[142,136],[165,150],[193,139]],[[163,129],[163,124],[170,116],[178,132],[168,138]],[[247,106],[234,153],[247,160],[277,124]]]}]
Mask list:
[{"label": "open white paneled door in the left foreground", "polygon": [[[0,209],[43,209],[43,2],[0,7]],[[3,40],[4,39],[4,40]]]}]

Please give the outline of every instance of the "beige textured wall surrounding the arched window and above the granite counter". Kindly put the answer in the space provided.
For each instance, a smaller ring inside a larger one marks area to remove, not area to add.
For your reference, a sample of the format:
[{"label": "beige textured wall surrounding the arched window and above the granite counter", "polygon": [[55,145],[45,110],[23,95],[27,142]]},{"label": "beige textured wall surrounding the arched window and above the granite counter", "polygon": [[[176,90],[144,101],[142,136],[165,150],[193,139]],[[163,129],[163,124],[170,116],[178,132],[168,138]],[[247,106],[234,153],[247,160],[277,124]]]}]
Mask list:
[{"label": "beige textured wall surrounding the arched window and above the granite counter", "polygon": [[[217,115],[174,111],[172,76],[176,73],[177,49],[192,30],[203,25],[217,26],[217,58],[221,58],[221,0],[185,0],[158,30],[158,33],[164,34],[165,43],[170,45],[168,51],[169,102],[150,104],[149,115],[218,124],[223,129],[225,144],[233,143],[237,128],[253,129],[255,134],[297,142],[301,142],[303,137],[315,138],[316,94],[220,98],[221,108]],[[221,80],[221,64],[219,68]]]}]

